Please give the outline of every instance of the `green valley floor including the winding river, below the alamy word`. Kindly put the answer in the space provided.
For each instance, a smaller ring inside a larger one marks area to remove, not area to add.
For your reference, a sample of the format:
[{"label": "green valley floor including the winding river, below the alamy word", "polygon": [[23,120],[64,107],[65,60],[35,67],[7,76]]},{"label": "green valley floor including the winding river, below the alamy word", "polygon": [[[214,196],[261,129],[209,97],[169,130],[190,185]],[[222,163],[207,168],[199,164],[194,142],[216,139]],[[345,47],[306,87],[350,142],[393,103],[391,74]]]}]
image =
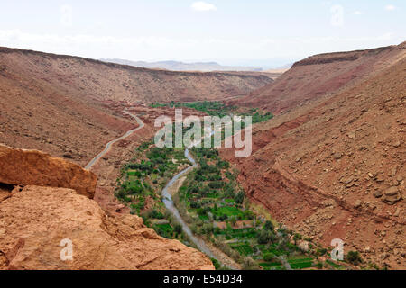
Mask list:
[{"label": "green valley floor including the winding river, below the alamy word", "polygon": [[116,197],[162,237],[198,247],[214,263],[263,270],[326,265],[320,261],[327,249],[251,209],[238,171],[217,149],[190,151],[143,143],[123,167]]}]

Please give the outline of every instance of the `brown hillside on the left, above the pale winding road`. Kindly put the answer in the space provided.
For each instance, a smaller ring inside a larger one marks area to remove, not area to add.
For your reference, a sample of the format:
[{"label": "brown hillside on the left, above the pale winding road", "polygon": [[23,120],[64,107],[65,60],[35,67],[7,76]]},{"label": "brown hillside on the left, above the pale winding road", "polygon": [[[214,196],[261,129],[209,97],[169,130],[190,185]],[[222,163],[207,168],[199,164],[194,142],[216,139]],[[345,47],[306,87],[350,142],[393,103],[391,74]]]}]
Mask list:
[{"label": "brown hillside on the left, above the pale winding road", "polygon": [[7,54],[5,59],[0,53],[0,143],[42,150],[84,166],[106,142],[134,127],[78,89],[61,89],[26,73],[24,61],[31,60],[22,58]]}]

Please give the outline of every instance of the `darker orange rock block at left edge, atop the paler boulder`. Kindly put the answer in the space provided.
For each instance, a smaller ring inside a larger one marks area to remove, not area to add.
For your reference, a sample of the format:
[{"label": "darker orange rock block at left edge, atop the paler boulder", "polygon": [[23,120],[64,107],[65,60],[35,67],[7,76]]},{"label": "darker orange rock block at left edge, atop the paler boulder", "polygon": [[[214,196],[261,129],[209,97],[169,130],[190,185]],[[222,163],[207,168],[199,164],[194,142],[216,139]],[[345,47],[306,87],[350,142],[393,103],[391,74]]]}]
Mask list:
[{"label": "darker orange rock block at left edge, atop the paler boulder", "polygon": [[70,188],[92,199],[97,176],[37,150],[0,145],[0,183]]}]

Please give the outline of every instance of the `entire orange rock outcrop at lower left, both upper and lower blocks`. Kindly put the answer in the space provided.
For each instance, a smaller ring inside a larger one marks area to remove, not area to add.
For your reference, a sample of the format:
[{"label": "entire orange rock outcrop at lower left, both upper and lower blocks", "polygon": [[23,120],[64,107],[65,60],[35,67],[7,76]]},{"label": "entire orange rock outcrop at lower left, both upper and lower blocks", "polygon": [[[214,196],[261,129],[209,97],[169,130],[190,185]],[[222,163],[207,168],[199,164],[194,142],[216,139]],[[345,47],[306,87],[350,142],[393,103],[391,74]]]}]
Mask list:
[{"label": "entire orange rock outcrop at lower left, both upper and lower blocks", "polygon": [[0,269],[214,269],[141,218],[103,211],[80,166],[0,146],[0,167]]}]

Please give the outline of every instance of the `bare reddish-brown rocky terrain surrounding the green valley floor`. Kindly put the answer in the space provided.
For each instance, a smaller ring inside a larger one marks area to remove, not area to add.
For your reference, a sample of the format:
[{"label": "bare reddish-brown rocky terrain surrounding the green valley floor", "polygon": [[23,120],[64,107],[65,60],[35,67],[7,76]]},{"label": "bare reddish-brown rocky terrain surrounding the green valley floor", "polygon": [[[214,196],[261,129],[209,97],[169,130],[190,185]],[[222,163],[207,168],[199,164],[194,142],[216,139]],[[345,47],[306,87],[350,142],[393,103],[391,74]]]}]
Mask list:
[{"label": "bare reddish-brown rocky terrain surrounding the green valley floor", "polygon": [[[275,114],[254,125],[250,157],[220,149],[250,202],[325,247],[342,238],[364,261],[404,269],[405,56],[401,43],[278,73],[202,73],[0,49],[0,269],[213,269],[115,198],[155,118],[174,113],[151,103],[201,101]],[[125,111],[142,129],[83,169],[139,127]],[[69,235],[80,250],[66,266],[59,242]]]}]

